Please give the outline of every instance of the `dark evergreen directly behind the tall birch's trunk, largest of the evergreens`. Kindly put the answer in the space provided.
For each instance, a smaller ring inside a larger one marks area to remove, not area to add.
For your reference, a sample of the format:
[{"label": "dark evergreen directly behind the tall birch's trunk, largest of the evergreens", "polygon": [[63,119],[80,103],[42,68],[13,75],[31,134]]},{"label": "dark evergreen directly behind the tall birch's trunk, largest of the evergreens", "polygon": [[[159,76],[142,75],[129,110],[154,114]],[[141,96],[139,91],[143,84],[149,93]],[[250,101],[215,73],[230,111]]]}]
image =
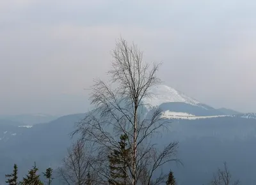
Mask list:
[{"label": "dark evergreen directly behind the tall birch's trunk, largest of the evergreens", "polygon": [[127,148],[127,136],[121,135],[119,149],[115,149],[108,156],[110,179],[109,184],[125,185],[127,183],[127,168],[129,166],[129,156],[131,154],[131,148]]}]

